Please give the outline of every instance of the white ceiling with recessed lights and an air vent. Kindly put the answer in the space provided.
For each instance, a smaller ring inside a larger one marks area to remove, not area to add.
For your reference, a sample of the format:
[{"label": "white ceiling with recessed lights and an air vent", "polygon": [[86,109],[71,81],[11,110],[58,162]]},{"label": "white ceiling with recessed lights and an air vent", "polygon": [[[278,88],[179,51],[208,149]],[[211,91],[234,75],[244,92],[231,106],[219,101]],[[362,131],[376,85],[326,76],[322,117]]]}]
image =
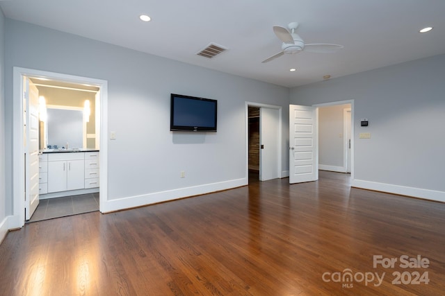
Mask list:
[{"label": "white ceiling with recessed lights and an air vent", "polygon": [[[0,7],[10,19],[286,87],[445,53],[444,0],[12,0]],[[306,43],[344,48],[262,64],[281,51],[272,27],[292,21]],[[434,29],[418,32],[426,26]],[[228,50],[196,55],[211,42]]]}]

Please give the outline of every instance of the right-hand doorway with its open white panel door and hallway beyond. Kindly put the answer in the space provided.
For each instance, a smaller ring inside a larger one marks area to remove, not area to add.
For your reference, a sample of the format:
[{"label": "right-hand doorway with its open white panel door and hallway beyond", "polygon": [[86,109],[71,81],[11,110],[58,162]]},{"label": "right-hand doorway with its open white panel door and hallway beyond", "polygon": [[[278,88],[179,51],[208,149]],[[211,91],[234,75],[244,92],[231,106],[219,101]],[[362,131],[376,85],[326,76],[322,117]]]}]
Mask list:
[{"label": "right-hand doorway with its open white panel door and hallway beyond", "polygon": [[[334,120],[323,115],[327,108],[337,109]],[[353,179],[353,122],[354,100],[289,105],[289,183],[318,180],[318,171],[350,172]]]}]

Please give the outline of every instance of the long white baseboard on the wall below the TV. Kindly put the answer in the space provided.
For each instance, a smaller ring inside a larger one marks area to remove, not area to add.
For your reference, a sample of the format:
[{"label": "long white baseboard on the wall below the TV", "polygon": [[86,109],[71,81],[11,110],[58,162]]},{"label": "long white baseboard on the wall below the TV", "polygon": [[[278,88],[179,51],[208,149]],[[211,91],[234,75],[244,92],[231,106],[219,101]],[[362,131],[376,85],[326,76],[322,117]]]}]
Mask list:
[{"label": "long white baseboard on the wall below the TV", "polygon": [[242,179],[229,180],[226,182],[204,184],[181,189],[148,193],[144,195],[129,196],[126,198],[118,198],[115,200],[107,200],[106,202],[101,202],[100,211],[102,213],[108,213],[111,211],[119,211],[122,209],[131,209],[133,207],[142,207],[148,204],[166,202],[169,200],[177,200],[179,198],[187,198],[193,195],[201,195],[226,189],[233,189],[236,187],[245,186],[247,184],[248,178],[245,177]]}]

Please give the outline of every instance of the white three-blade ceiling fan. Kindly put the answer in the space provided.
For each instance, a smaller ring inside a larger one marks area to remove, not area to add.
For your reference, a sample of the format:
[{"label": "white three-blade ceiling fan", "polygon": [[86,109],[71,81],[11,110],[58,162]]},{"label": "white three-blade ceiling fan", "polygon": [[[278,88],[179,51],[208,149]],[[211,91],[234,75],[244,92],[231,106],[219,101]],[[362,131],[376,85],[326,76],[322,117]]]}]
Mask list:
[{"label": "white three-blade ceiling fan", "polygon": [[293,54],[299,53],[303,50],[311,51],[313,53],[334,53],[339,49],[343,49],[343,46],[339,44],[305,44],[301,37],[297,33],[295,33],[296,29],[298,28],[297,22],[292,22],[287,27],[289,28],[289,31],[281,26],[273,26],[273,32],[275,33],[275,35],[277,35],[278,39],[283,42],[281,46],[282,51],[280,51],[280,53],[272,55],[270,58],[267,58],[263,62],[270,62],[271,60],[284,55],[284,53]]}]

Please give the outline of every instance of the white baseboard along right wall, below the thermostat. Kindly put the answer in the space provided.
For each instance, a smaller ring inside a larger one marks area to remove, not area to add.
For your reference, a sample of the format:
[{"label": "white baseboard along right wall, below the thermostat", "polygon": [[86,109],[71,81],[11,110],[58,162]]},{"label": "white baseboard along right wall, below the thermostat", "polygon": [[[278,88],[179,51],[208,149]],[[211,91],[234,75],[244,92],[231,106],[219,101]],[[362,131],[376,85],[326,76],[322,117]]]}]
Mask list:
[{"label": "white baseboard along right wall, below the thermostat", "polygon": [[408,186],[399,186],[393,184],[385,184],[379,182],[371,182],[364,180],[353,180],[351,186],[369,189],[375,191],[383,191],[387,193],[394,193],[400,195],[407,195],[413,198],[422,198],[424,200],[435,200],[438,202],[445,202],[445,192],[444,191],[434,191],[429,189],[419,189]]}]

